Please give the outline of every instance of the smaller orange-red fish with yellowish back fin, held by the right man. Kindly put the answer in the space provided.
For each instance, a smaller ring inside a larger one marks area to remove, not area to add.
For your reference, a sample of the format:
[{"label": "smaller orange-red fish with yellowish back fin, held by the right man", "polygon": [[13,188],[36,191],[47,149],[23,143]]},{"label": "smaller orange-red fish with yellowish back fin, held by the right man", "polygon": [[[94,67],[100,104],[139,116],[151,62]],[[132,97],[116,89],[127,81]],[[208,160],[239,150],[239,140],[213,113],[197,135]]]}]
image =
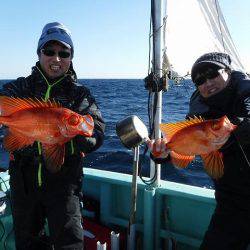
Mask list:
[{"label": "smaller orange-red fish with yellowish back fin, held by the right man", "polygon": [[207,173],[218,179],[223,175],[222,153],[218,150],[226,143],[230,133],[236,129],[226,116],[220,119],[190,120],[160,124],[160,129],[167,138],[171,161],[179,167],[186,167],[200,155]]}]

